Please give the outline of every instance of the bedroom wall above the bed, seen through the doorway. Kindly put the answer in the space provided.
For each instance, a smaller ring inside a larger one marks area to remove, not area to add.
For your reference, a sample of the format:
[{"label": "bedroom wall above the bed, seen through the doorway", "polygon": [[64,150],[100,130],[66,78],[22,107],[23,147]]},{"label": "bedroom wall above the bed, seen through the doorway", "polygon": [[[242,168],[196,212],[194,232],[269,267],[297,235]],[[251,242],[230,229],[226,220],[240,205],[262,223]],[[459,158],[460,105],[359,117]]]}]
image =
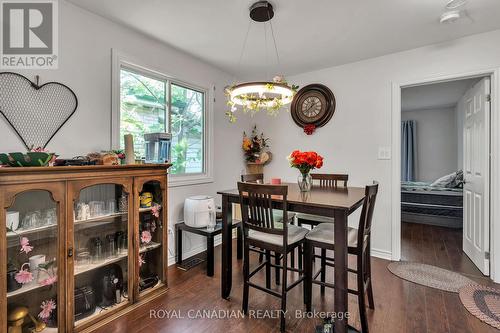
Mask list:
[{"label": "bedroom wall above the bed, seen through the doorway", "polygon": [[433,182],[457,171],[455,108],[403,111],[401,120],[417,122],[417,181]]}]

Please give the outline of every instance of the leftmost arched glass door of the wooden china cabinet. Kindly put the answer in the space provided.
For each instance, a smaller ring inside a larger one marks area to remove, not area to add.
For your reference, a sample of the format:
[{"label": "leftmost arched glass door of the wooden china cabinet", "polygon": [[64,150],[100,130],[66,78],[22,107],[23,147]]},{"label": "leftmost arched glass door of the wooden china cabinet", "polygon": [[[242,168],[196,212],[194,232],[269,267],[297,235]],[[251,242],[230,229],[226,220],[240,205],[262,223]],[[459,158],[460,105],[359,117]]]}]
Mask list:
[{"label": "leftmost arched glass door of the wooden china cabinet", "polygon": [[58,261],[61,207],[50,192],[28,190],[5,211],[7,327],[2,332],[58,332],[58,309],[64,308],[58,297],[58,269],[64,271]]}]

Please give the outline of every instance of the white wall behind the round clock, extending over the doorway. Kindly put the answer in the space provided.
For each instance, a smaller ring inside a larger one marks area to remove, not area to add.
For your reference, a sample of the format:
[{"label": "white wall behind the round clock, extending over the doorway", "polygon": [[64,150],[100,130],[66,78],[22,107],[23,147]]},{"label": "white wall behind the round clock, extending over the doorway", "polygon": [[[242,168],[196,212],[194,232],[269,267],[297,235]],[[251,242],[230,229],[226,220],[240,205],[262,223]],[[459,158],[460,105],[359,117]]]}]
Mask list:
[{"label": "white wall behind the round clock, extending over the doorway", "polygon": [[374,215],[374,254],[391,255],[391,161],[378,160],[379,146],[391,146],[392,83],[500,67],[500,30],[337,67],[288,77],[300,86],[323,83],[337,98],[332,120],[311,136],[283,112],[255,121],[272,139],[274,160],[269,176],[295,180],[285,157],[294,149],[325,155],[322,171],[348,172],[352,185],[380,182]]}]

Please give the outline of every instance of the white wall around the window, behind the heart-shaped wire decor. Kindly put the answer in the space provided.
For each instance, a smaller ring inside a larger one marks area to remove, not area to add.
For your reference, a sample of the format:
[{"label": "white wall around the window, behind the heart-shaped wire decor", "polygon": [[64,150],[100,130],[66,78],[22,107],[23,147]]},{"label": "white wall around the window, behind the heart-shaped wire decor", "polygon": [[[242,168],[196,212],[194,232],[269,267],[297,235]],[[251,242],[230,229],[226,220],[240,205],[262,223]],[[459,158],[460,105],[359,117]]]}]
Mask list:
[{"label": "white wall around the window, behind the heart-shaped wire decor", "polygon": [[[169,224],[182,218],[184,198],[196,194],[216,195],[216,191],[234,187],[243,162],[240,138],[248,129],[245,118],[236,125],[225,119],[223,88],[230,76],[172,47],[154,41],[100,16],[91,14],[66,1],[59,2],[59,69],[19,71],[40,82],[59,81],[71,87],[78,96],[75,115],[54,137],[48,148],[64,157],[91,151],[107,150],[111,145],[111,49],[140,59],[153,69],[201,87],[216,87],[214,117],[213,183],[171,188]],[[0,120],[0,151],[23,151],[24,147],[6,122]],[[218,201],[220,199],[218,198]],[[174,249],[174,238],[169,238]],[[201,250],[202,238],[190,236],[185,252]],[[189,253],[190,254],[190,253]]]}]

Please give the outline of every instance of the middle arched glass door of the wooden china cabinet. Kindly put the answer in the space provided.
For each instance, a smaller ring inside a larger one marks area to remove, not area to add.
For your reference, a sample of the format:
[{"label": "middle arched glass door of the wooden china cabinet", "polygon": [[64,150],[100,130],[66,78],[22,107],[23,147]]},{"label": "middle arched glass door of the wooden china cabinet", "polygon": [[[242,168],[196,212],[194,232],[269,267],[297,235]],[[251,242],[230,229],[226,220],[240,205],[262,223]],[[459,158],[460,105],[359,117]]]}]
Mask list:
[{"label": "middle arched glass door of the wooden china cabinet", "polygon": [[73,199],[73,320],[82,327],[129,303],[129,195],[98,184]]}]

